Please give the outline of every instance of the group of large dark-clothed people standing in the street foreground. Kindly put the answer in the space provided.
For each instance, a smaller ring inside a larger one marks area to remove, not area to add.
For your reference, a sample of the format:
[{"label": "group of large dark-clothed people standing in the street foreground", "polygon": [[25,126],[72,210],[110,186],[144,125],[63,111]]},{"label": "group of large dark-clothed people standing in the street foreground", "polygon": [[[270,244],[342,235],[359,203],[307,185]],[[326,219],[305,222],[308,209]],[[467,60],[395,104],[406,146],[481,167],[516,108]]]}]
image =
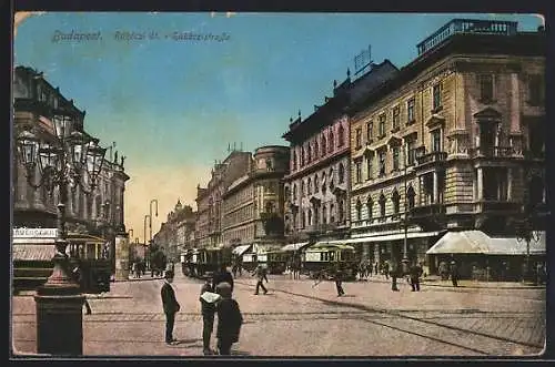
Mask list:
[{"label": "group of large dark-clothed people standing in the street foreground", "polygon": [[[161,289],[162,305],[165,314],[165,343],[175,345],[179,341],[173,337],[175,314],[181,309],[172,287],[173,271],[167,271]],[[239,304],[232,298],[233,276],[225,266],[215,272],[212,278],[206,278],[201,287],[199,300],[202,314],[202,345],[204,355],[230,355],[233,343],[239,341],[239,334],[243,317]],[[218,351],[210,348],[210,339],[218,314],[216,339]]]}]

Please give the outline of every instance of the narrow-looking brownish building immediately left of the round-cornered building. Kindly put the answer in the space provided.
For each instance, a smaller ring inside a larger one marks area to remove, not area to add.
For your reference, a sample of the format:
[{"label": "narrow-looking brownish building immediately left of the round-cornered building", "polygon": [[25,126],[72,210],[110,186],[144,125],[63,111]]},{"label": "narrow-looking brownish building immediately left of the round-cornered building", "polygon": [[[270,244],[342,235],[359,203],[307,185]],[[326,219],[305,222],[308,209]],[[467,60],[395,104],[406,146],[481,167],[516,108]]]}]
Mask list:
[{"label": "narrow-looking brownish building immediately left of the round-cornered building", "polygon": [[221,246],[222,195],[233,181],[243,176],[251,164],[251,153],[233,150],[223,162],[216,162],[206,187],[196,186],[195,242],[199,247]]}]

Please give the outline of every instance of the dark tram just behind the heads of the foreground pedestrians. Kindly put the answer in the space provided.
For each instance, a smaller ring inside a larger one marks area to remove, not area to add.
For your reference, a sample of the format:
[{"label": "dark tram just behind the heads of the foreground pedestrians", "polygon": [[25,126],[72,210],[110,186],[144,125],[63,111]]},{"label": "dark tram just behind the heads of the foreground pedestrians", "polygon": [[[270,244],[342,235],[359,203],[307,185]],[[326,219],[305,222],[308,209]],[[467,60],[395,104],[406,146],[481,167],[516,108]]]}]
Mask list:
[{"label": "dark tram just behind the heads of the foreground pedestrians", "polygon": [[[231,265],[231,252],[229,247],[195,248],[191,252],[188,265],[189,276],[211,276],[222,264]],[[182,265],[183,267],[183,265]]]}]

